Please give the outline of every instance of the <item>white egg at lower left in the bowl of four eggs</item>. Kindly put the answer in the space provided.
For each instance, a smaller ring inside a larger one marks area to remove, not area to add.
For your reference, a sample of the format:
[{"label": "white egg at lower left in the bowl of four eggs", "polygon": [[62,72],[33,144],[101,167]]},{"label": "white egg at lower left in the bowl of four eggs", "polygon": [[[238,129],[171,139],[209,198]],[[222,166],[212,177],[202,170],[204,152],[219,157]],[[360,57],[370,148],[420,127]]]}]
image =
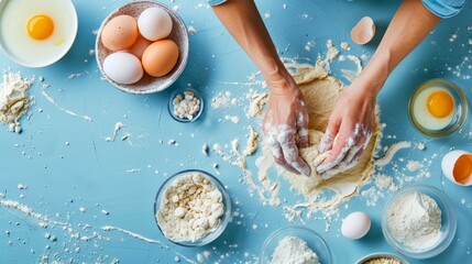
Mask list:
[{"label": "white egg at lower left in the bowl of four eggs", "polygon": [[141,61],[124,52],[112,53],[103,61],[105,74],[117,84],[131,85],[143,77]]}]

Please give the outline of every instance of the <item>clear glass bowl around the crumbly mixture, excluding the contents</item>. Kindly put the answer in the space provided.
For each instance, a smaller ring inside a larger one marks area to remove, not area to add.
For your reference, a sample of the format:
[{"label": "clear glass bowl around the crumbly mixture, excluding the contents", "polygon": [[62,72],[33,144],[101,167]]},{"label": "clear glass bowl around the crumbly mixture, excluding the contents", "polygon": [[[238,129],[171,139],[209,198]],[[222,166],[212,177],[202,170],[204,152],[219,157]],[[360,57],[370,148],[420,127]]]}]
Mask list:
[{"label": "clear glass bowl around the crumbly mixture, excluding the contents", "polygon": [[[215,185],[215,187],[221,193],[222,202],[224,206],[224,212],[220,217],[220,224],[218,226],[218,228],[215,231],[209,232],[205,238],[197,240],[197,241],[194,241],[194,242],[193,241],[179,241],[179,242],[172,241],[172,240],[167,239],[167,237],[165,237],[164,232],[162,231],[162,229],[158,224],[157,211],[161,208],[161,202],[163,200],[163,196],[164,196],[167,187],[169,185],[172,185],[175,180],[177,180],[179,177],[183,177],[183,176],[186,176],[189,174],[195,174],[195,173],[205,175]],[[171,241],[174,244],[182,245],[182,246],[194,248],[194,246],[202,246],[202,245],[211,243],[213,240],[216,240],[218,237],[220,237],[220,234],[224,231],[224,229],[228,226],[230,218],[231,218],[231,199],[230,199],[230,196],[229,196],[227,189],[221,184],[221,182],[219,179],[217,179],[213,175],[211,175],[207,172],[204,172],[204,170],[199,170],[199,169],[183,170],[183,172],[176,173],[173,176],[171,176],[169,178],[167,178],[163,183],[161,188],[158,189],[156,197],[155,197],[155,201],[154,201],[154,219],[156,221],[158,230],[164,235],[164,238],[166,238],[168,241]]]}]

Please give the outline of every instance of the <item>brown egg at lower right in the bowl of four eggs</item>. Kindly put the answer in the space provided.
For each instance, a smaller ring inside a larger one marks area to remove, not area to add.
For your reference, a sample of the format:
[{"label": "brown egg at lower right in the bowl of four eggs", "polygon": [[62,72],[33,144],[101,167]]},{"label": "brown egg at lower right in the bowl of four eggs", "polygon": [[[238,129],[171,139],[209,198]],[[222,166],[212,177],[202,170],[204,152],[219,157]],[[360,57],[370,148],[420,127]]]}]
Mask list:
[{"label": "brown egg at lower right in the bowl of four eggs", "polygon": [[154,77],[162,77],[175,67],[178,59],[178,47],[171,40],[156,41],[143,53],[144,70]]}]

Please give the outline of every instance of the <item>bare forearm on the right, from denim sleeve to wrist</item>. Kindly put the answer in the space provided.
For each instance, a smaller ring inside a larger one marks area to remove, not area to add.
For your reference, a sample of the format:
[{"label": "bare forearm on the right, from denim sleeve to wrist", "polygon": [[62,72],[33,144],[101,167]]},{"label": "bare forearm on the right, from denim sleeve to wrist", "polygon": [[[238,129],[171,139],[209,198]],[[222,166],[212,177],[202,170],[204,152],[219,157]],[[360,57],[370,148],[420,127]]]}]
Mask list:
[{"label": "bare forearm on the right, from denim sleeve to wrist", "polygon": [[370,89],[377,94],[388,75],[429,34],[439,20],[420,0],[405,0],[360,78],[369,81]]}]

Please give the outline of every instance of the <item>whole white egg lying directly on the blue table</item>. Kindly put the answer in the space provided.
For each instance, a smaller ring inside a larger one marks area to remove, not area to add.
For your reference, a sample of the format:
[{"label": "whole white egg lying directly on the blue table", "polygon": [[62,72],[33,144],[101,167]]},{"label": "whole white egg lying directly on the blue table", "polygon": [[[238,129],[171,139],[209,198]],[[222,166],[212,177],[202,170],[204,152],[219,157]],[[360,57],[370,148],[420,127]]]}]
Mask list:
[{"label": "whole white egg lying directly on the blue table", "polygon": [[344,238],[356,240],[364,237],[371,229],[371,218],[367,213],[355,211],[342,221],[341,233]]}]

